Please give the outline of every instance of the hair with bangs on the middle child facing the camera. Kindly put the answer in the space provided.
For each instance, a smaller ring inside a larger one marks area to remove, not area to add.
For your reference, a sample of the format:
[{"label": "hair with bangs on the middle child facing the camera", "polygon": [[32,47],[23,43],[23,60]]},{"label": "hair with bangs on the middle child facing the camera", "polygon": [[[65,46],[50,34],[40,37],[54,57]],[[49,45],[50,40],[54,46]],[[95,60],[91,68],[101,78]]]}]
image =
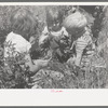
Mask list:
[{"label": "hair with bangs on the middle child facing the camera", "polygon": [[58,8],[46,9],[46,24],[52,24],[54,21],[58,19],[63,23],[63,12]]}]

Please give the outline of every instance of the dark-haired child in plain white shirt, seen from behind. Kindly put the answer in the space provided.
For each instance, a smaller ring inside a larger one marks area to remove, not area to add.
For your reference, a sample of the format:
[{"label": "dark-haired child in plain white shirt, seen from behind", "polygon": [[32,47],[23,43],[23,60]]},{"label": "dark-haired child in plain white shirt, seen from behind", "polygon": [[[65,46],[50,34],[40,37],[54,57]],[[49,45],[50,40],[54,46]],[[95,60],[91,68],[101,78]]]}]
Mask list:
[{"label": "dark-haired child in plain white shirt, seen from behind", "polygon": [[[36,33],[37,28],[37,22],[32,13],[27,9],[17,9],[12,13],[10,21],[12,31],[5,39],[4,57],[8,58],[9,56],[16,56],[19,53],[25,53],[25,65],[29,67],[32,73],[48,66],[49,59],[37,59],[32,62],[30,57],[31,43],[29,41],[32,42],[31,36]],[[11,51],[12,45],[14,45],[15,52]]]}]

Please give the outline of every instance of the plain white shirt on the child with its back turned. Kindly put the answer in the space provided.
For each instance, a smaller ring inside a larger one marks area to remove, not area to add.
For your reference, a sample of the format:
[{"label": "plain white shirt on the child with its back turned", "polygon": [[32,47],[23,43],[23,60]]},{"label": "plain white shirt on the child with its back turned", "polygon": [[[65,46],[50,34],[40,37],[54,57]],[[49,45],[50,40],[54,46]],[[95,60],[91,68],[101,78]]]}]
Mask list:
[{"label": "plain white shirt on the child with its back turned", "polygon": [[5,39],[4,57],[15,56],[17,53],[28,53],[30,48],[31,44],[21,35],[10,32]]}]

